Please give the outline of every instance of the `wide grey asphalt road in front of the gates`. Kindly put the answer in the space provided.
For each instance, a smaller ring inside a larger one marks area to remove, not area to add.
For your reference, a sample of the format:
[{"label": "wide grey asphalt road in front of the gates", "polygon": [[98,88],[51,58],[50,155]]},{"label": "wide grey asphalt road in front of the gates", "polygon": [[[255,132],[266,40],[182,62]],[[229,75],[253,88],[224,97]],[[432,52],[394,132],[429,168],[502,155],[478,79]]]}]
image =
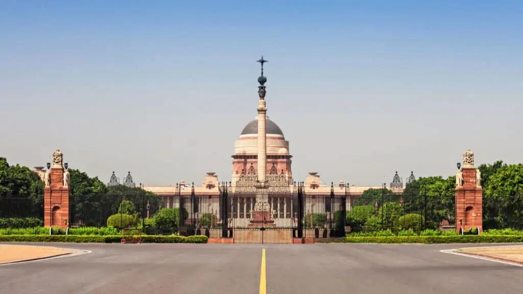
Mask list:
[{"label": "wide grey asphalt road in front of the gates", "polygon": [[523,286],[523,267],[440,252],[477,244],[46,245],[92,252],[0,266],[0,292],[259,293],[263,248],[269,294],[501,294]]}]

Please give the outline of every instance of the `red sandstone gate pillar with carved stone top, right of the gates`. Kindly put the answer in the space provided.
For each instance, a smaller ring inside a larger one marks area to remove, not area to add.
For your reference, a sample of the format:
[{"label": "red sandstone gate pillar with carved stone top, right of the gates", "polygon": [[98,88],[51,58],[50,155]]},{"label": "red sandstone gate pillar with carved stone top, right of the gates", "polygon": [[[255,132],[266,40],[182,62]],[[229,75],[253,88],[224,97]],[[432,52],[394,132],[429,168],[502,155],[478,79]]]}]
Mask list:
[{"label": "red sandstone gate pillar with carved stone top, right of the gates", "polygon": [[474,168],[474,153],[463,153],[462,168],[456,174],[456,231],[483,231],[483,188],[481,172]]}]

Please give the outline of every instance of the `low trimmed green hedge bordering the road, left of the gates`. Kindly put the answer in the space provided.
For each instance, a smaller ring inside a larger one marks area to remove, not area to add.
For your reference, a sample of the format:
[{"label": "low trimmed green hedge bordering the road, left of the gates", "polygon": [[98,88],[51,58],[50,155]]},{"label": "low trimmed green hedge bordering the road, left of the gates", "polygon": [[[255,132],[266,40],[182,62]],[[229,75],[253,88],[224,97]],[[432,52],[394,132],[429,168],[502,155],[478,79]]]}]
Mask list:
[{"label": "low trimmed green hedge bordering the road, left of the gates", "polygon": [[[142,236],[143,243],[207,243],[207,236]],[[0,235],[0,242],[120,243],[122,236]]]}]

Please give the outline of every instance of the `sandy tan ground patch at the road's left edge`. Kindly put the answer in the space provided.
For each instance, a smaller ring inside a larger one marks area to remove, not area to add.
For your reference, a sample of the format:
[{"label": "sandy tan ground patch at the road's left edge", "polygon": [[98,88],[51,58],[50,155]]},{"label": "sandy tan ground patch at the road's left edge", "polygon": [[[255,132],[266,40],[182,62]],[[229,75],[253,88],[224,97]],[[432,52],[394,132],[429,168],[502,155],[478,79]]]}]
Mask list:
[{"label": "sandy tan ground patch at the road's left edge", "polygon": [[75,252],[75,250],[46,246],[0,245],[0,264],[28,261]]}]

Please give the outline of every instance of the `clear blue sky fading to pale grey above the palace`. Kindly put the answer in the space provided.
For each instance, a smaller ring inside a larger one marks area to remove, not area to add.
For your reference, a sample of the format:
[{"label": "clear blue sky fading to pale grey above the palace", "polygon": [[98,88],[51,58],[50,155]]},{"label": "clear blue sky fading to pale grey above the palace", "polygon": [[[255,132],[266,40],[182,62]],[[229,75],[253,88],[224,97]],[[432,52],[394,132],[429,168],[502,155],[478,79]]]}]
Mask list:
[{"label": "clear blue sky fading to pale grey above the palace", "polygon": [[523,162],[521,1],[0,0],[0,156],[108,182],[230,180],[267,115],[294,180],[390,183]]}]

